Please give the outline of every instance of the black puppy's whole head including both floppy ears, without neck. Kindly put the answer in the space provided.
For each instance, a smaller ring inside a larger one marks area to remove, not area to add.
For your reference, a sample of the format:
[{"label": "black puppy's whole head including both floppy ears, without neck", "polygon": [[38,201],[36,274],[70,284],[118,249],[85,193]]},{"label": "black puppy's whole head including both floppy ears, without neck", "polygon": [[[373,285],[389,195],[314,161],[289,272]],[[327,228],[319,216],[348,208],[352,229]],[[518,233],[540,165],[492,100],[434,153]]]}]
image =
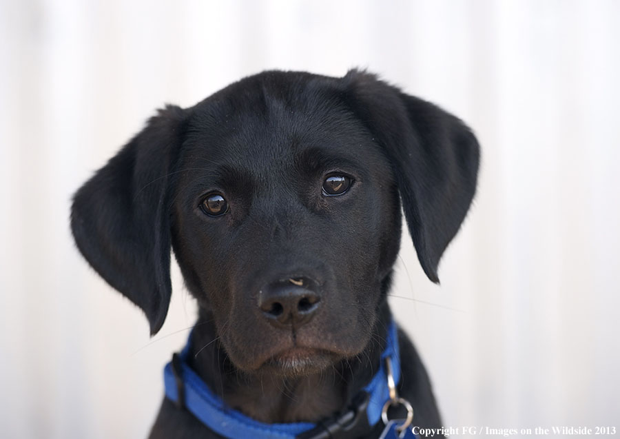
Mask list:
[{"label": "black puppy's whole head including both floppy ears, without neck", "polygon": [[478,154],[461,121],[371,74],[265,72],[161,110],[77,192],[72,229],[152,334],[172,246],[236,367],[308,374],[371,340],[400,200],[437,281]]}]

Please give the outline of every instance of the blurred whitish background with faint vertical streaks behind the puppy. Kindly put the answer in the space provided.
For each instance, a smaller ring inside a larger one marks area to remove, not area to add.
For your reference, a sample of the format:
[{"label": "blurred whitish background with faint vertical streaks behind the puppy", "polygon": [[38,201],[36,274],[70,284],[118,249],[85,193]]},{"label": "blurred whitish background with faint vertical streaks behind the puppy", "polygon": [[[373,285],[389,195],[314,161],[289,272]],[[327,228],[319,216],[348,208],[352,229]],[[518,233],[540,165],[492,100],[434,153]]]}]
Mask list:
[{"label": "blurred whitish background with faint vertical streaks behind the puppy", "polygon": [[[464,119],[479,192],[392,298],[453,427],[620,427],[620,2],[0,3],[0,436],[139,438],[195,313],[141,312],[76,252],[70,196],[165,102],[267,68],[367,67]],[[431,305],[433,304],[433,305]]]}]

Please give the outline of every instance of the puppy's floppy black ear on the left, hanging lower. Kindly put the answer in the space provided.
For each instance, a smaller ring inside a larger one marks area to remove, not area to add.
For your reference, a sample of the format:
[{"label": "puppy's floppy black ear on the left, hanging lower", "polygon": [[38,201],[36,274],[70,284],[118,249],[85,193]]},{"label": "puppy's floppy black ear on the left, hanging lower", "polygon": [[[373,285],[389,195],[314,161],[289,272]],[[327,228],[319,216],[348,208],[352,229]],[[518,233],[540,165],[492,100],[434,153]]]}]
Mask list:
[{"label": "puppy's floppy black ear on the left, hanging lower", "polygon": [[170,301],[169,184],[185,111],[168,105],[76,192],[71,228],[107,283],[145,312],[156,334]]}]

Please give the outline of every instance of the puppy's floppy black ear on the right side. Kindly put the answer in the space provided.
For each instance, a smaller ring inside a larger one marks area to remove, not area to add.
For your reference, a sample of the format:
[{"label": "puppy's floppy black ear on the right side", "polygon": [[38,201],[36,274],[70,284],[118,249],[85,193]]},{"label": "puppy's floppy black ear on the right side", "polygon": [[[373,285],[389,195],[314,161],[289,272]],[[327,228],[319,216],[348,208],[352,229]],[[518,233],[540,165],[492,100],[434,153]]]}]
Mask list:
[{"label": "puppy's floppy black ear on the right side", "polygon": [[373,74],[351,70],[342,81],[345,101],[393,165],[417,258],[438,283],[437,265],[475,192],[478,142],[452,114]]}]

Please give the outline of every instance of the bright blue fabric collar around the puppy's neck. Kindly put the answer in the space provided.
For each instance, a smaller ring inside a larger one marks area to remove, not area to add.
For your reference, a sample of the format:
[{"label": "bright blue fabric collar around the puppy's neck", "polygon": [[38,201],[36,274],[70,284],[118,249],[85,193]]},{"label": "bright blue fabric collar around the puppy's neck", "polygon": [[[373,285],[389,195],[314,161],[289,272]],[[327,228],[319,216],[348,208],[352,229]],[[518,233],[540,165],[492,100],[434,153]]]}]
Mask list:
[{"label": "bright blue fabric collar around the puppy's neck", "polygon": [[[293,439],[300,433],[315,429],[311,422],[290,422],[265,424],[226,407],[223,400],[214,394],[205,382],[187,365],[189,341],[180,355],[173,357],[164,369],[166,397],[183,405],[200,422],[225,438],[280,438]],[[381,421],[381,410],[389,400],[385,358],[391,358],[394,382],[400,381],[400,352],[396,325],[391,322],[386,338],[386,347],[381,354],[380,368],[364,387],[369,395],[366,416],[370,427]],[[180,394],[180,398],[179,398]]]}]

